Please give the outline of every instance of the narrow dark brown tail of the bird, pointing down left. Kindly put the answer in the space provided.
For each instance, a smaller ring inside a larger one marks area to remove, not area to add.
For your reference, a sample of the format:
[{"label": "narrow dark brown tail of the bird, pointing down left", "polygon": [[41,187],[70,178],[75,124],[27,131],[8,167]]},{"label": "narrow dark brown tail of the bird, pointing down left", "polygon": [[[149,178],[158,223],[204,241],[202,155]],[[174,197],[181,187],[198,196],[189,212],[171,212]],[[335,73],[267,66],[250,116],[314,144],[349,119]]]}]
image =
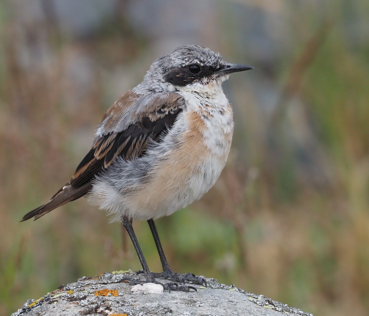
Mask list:
[{"label": "narrow dark brown tail of the bird, pointing down left", "polygon": [[31,212],[28,212],[23,216],[21,221],[25,221],[27,219],[30,219],[31,217],[34,217],[34,220],[37,220],[46,213],[49,213],[50,211],[56,209],[56,207],[62,206],[65,203],[76,200],[79,197],[85,195],[91,189],[92,184],[89,181],[77,188],[67,183],[65,186],[63,186],[63,188],[55,193],[55,195],[50,199],[48,203],[37,207]]}]

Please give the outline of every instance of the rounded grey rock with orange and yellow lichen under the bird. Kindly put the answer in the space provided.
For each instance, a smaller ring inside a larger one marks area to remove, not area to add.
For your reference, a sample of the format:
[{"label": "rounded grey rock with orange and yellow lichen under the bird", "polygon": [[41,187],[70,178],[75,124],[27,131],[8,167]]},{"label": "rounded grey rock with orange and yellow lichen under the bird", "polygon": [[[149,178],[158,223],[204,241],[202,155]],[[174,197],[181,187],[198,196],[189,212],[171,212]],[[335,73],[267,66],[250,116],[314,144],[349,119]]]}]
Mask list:
[{"label": "rounded grey rock with orange and yellow lichen under the bird", "polygon": [[[132,286],[122,278],[145,281],[144,275],[131,271],[115,271],[97,277],[83,277],[77,282],[37,300],[27,300],[12,316],[34,315],[301,315],[312,316],[300,309],[273,301],[263,295],[248,293],[235,286],[206,279],[207,288],[194,285],[197,292],[164,291],[163,293],[132,293]],[[163,284],[166,279],[157,279]]]}]

